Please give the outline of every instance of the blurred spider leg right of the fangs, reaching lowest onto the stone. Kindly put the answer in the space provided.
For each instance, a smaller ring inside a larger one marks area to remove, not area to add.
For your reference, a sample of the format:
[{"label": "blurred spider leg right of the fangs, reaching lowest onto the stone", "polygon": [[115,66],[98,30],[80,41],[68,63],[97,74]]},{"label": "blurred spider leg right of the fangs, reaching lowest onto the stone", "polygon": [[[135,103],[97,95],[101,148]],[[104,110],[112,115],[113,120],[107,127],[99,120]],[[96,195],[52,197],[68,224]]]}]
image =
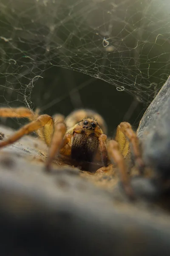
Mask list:
[{"label": "blurred spider leg right of the fangs, reaching lowest onto the stone", "polygon": [[115,163],[119,169],[120,180],[122,182],[125,193],[130,199],[135,199],[135,195],[130,184],[130,178],[127,174],[125,160],[119,150],[119,143],[117,143],[115,140],[110,140],[108,142],[108,154],[111,161]]}]

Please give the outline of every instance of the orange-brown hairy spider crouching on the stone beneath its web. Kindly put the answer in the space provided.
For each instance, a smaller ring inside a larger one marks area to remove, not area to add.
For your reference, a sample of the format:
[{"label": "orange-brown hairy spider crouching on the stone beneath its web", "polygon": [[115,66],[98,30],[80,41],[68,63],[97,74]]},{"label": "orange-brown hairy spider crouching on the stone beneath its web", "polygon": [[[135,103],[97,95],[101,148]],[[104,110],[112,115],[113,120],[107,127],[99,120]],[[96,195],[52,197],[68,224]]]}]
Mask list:
[{"label": "orange-brown hairy spider crouching on the stone beneath its web", "polygon": [[70,157],[77,162],[100,161],[103,166],[116,164],[120,181],[129,198],[134,198],[130,177],[124,158],[133,149],[139,170],[144,167],[139,140],[128,122],[121,122],[116,129],[115,139],[107,139],[104,119],[98,113],[80,109],[64,118],[61,114],[54,117],[27,108],[0,108],[1,117],[26,117],[31,122],[16,131],[11,137],[0,142],[0,147],[10,145],[26,134],[36,131],[48,145],[45,169],[50,170],[51,162],[57,155]]}]

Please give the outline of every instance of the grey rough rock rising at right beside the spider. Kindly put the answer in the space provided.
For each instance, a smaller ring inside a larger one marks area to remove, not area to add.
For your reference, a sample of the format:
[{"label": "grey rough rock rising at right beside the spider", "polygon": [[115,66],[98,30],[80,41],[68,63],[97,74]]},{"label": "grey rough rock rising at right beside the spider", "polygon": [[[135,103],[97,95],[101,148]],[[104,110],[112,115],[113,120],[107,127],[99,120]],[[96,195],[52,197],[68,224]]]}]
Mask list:
[{"label": "grey rough rock rising at right beside the spider", "polygon": [[170,190],[170,77],[147,108],[138,128],[143,159]]}]

